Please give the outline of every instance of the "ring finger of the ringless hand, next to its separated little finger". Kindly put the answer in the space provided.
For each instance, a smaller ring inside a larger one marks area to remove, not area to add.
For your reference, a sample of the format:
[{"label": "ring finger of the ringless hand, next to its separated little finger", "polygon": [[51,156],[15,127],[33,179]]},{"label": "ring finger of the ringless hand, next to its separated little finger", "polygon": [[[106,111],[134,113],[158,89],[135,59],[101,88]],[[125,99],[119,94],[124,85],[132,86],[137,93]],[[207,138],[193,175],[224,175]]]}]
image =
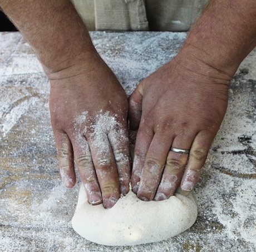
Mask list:
[{"label": "ring finger of the ringless hand, next to its separated little finger", "polygon": [[83,135],[76,136],[73,142],[76,165],[81,181],[85,186],[88,202],[92,205],[102,203],[100,185],[93,167],[90,148]]}]

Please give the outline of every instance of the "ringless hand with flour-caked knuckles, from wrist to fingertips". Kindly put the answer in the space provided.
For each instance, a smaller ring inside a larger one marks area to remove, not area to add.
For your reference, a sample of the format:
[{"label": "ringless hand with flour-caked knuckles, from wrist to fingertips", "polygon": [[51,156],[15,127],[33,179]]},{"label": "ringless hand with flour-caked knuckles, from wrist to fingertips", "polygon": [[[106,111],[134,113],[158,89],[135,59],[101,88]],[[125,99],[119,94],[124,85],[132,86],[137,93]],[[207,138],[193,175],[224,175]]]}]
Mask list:
[{"label": "ringless hand with flour-caked knuckles, from wrist to fingertips", "polygon": [[127,98],[114,73],[93,54],[50,76],[50,111],[63,184],[73,187],[73,160],[89,203],[111,208],[129,191]]}]

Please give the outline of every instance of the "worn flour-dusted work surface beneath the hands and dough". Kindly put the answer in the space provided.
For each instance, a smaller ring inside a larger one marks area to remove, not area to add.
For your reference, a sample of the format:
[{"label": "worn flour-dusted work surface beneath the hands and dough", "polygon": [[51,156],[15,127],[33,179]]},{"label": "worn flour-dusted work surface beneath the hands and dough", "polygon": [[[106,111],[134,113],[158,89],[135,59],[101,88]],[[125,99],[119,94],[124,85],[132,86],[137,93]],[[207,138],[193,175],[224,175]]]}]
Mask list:
[{"label": "worn flour-dusted work surface beneath the hands and dough", "polygon": [[[185,36],[91,33],[127,94],[173,58]],[[0,251],[255,251],[255,56],[256,50],[232,80],[227,115],[194,191],[199,211],[194,226],[160,243],[107,247],[71,228],[79,186],[61,185],[48,80],[21,34],[1,33]]]}]

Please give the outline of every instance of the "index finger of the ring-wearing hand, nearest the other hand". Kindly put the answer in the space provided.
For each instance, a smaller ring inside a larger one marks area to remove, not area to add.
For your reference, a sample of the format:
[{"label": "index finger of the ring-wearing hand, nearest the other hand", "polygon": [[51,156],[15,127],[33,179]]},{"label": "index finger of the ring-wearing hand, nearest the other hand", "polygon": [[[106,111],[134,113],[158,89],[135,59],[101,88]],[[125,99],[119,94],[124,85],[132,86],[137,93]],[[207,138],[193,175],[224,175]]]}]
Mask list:
[{"label": "index finger of the ring-wearing hand, nearest the other hand", "polygon": [[141,123],[136,137],[134,162],[132,164],[131,173],[131,187],[134,193],[137,193],[137,190],[139,189],[140,177],[146,159],[146,153],[153,137],[154,132],[152,129],[145,127],[145,124]]}]

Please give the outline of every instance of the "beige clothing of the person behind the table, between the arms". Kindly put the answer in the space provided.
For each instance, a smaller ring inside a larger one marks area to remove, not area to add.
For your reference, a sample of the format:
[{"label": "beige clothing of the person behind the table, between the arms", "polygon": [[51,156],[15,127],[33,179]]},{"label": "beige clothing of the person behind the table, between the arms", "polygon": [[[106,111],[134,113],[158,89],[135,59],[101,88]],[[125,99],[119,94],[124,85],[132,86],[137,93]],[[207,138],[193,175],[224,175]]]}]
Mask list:
[{"label": "beige clothing of the person behind the table, between the arms", "polygon": [[208,0],[71,0],[90,31],[188,31]]}]

